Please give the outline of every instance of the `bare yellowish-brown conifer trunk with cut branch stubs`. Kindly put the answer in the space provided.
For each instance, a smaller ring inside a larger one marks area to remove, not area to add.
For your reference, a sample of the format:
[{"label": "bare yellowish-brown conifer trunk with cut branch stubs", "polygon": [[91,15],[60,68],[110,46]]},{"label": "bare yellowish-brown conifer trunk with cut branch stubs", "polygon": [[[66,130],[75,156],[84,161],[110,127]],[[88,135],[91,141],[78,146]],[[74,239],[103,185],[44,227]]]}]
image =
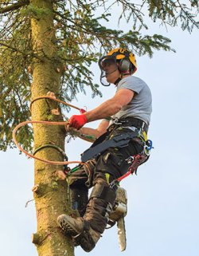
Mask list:
[{"label": "bare yellowish-brown conifer trunk with cut branch stubs", "polygon": [[[60,77],[63,70],[57,57],[55,28],[53,26],[53,3],[51,0],[32,0],[36,10],[31,18],[34,53],[40,56],[33,61],[32,100],[46,95],[49,91],[59,96]],[[60,120],[52,114],[57,108],[53,100],[36,100],[32,105],[33,120]],[[64,127],[34,124],[34,148],[45,144],[55,144],[64,149]],[[63,161],[63,156],[55,148],[44,148],[37,156],[47,160]],[[33,243],[39,256],[74,255],[71,238],[66,238],[57,226],[57,216],[68,212],[67,183],[60,179],[58,172],[62,166],[35,161],[34,199],[37,212],[37,233]]]}]

